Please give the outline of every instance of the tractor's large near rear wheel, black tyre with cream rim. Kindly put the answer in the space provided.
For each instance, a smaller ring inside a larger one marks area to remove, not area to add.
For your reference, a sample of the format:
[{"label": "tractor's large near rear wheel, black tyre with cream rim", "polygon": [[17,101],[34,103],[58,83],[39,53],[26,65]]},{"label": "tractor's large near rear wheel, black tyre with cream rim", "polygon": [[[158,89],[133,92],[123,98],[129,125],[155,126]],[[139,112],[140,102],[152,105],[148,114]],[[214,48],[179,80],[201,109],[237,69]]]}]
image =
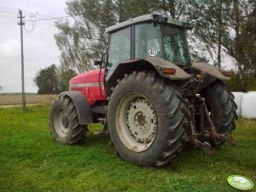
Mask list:
[{"label": "tractor's large near rear wheel, black tyre with cream rim", "polygon": [[134,72],[117,82],[108,109],[117,155],[141,166],[166,165],[183,147],[185,99],[151,72]]}]

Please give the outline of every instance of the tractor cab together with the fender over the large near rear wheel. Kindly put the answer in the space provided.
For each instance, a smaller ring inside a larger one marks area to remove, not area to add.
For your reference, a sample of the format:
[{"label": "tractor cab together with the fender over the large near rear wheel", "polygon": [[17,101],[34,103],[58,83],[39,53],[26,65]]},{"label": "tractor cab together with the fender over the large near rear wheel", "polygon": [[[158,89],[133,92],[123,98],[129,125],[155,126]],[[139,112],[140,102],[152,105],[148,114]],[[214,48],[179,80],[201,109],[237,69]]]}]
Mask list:
[{"label": "tractor cab together with the fender over the large near rear wheel", "polygon": [[110,88],[115,87],[118,78],[134,70],[156,71],[172,80],[190,79],[182,69],[192,63],[185,33],[191,29],[189,23],[158,14],[142,15],[106,28],[106,96],[111,95]]}]

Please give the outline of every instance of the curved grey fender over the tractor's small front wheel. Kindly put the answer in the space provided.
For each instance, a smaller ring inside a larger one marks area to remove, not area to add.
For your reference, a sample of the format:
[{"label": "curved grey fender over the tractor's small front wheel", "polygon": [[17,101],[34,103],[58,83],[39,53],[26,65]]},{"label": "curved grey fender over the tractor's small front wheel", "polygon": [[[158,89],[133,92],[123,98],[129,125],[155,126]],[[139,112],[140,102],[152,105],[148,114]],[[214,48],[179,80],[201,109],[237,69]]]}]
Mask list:
[{"label": "curved grey fender over the tractor's small front wheel", "polygon": [[84,98],[82,93],[77,91],[66,91],[60,93],[60,95],[64,95],[65,97],[69,97],[73,103],[75,104],[79,124],[86,125],[89,122],[93,122],[93,113],[90,105],[87,100]]}]

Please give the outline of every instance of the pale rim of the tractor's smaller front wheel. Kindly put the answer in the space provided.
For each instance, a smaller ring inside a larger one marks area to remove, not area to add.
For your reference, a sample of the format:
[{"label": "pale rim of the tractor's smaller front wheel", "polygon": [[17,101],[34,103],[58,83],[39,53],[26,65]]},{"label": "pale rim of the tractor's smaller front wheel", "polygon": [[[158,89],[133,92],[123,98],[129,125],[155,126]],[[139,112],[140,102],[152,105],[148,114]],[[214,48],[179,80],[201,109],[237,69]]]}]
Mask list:
[{"label": "pale rim of the tractor's smaller front wheel", "polygon": [[54,114],[54,127],[60,137],[65,137],[69,130],[68,116],[65,110],[58,109]]}]

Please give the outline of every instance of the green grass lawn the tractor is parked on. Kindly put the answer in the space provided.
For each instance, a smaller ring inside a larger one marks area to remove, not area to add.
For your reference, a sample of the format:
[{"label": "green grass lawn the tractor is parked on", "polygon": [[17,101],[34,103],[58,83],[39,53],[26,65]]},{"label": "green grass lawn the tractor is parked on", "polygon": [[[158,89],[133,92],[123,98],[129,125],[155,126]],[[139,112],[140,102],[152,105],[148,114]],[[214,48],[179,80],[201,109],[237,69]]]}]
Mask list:
[{"label": "green grass lawn the tractor is parked on", "polygon": [[152,169],[117,158],[108,136],[94,135],[98,124],[82,144],[54,143],[48,108],[0,109],[1,191],[238,191],[226,183],[231,174],[256,184],[255,120],[237,121],[235,148],[225,144],[214,155],[186,148],[168,167]]}]

